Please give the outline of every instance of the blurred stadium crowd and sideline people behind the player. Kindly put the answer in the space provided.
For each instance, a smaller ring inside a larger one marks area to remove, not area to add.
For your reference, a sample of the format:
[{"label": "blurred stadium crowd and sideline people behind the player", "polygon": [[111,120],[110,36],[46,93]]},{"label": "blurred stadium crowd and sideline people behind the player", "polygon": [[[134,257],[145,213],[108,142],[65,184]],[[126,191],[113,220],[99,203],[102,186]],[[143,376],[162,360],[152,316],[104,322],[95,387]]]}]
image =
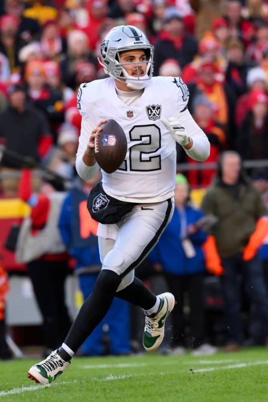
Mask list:
[{"label": "blurred stadium crowd and sideline people behind the player", "polygon": [[[155,46],[154,75],[183,78],[188,108],[211,144],[202,164],[219,163],[219,169],[177,175],[173,218],[137,270],[154,291],[167,284],[176,296],[162,351],[182,354],[191,347],[198,355],[213,354],[219,345],[226,351],[245,343],[268,347],[268,173],[251,170],[249,178],[241,170],[241,160],[268,155],[268,2],[5,0],[0,7],[0,196],[20,197],[32,208],[16,256],[27,265],[44,319],[45,355],[70,326],[64,302],[70,258],[84,298],[101,269],[96,222],[86,215],[93,183],[75,171],[81,124],[76,94],[81,83],[105,77],[98,63],[101,43],[121,24],[141,29]],[[194,162],[177,147],[178,164]],[[39,170],[49,173],[46,180]],[[197,209],[190,189],[207,187]],[[32,235],[44,230],[53,233],[46,250],[42,234]],[[0,359],[10,356],[4,269]],[[104,324],[111,353],[139,351],[142,327],[131,325],[140,321],[139,311],[117,299],[108,315],[81,353],[103,353]]]}]

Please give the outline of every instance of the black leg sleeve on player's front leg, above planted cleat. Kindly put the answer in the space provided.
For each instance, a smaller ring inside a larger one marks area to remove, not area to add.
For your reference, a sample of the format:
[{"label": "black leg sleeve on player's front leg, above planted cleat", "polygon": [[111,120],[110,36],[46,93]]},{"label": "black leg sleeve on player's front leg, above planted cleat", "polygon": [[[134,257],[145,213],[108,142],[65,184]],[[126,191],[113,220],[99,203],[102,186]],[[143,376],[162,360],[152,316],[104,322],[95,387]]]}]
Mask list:
[{"label": "black leg sleeve on player's front leg, above planted cleat", "polygon": [[100,272],[92,293],[84,301],[64,343],[76,352],[109,310],[121,278],[115,272]]}]

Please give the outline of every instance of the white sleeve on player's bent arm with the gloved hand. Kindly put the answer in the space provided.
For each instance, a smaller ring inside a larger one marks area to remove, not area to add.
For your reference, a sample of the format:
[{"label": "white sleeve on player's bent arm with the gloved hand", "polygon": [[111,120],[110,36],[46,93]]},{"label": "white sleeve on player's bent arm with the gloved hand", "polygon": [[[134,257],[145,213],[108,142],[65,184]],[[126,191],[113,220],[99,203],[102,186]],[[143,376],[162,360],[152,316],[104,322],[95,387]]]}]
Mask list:
[{"label": "white sleeve on player's bent arm with the gloved hand", "polygon": [[210,154],[210,143],[204,131],[195,122],[188,109],[178,112],[175,116],[185,127],[189,137],[193,140],[191,149],[186,150],[188,156],[198,162],[204,162]]}]

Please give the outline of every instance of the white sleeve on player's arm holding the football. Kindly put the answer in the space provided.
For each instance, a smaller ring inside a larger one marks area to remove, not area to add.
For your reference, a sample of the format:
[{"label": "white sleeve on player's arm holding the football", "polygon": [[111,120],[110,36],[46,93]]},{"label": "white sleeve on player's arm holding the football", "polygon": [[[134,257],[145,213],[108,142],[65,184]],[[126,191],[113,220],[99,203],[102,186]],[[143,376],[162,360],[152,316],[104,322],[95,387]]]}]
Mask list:
[{"label": "white sleeve on player's arm holding the football", "polygon": [[82,116],[82,120],[81,120],[81,131],[79,136],[79,145],[76,153],[75,168],[81,179],[89,180],[98,173],[99,165],[96,162],[96,164],[93,166],[87,166],[85,165],[82,159],[88,141],[90,140],[91,133],[94,130],[94,124],[90,121],[90,119],[88,119],[84,111],[84,102],[83,102],[84,100],[82,97],[81,87],[82,84],[80,85],[77,94],[77,109],[79,110],[80,115]]}]

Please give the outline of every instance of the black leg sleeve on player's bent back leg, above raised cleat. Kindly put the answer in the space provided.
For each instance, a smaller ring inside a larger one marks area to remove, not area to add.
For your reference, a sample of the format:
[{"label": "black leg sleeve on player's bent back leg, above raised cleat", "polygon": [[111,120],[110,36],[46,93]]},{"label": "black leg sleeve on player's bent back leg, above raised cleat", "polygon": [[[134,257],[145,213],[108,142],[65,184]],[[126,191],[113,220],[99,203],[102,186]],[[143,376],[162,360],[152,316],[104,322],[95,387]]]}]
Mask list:
[{"label": "black leg sleeve on player's bent back leg, above raised cleat", "polygon": [[116,292],[115,296],[142,307],[144,310],[149,310],[156,303],[156,296],[136,277],[134,277],[133,282],[129,286]]}]

